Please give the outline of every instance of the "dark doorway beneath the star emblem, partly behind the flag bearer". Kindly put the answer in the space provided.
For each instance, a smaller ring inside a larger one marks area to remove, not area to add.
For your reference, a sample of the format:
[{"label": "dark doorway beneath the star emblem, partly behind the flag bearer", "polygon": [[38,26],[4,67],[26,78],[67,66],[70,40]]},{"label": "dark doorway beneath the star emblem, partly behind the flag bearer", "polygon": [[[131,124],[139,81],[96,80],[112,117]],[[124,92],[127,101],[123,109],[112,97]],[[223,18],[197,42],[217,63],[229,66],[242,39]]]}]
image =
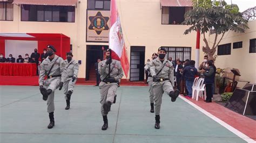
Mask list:
[{"label": "dark doorway beneath the star emblem, partly behind the flag bearer", "polygon": [[95,63],[98,59],[103,60],[104,51],[102,47],[104,49],[109,48],[109,46],[102,45],[87,45],[86,47],[86,81],[96,81]]}]

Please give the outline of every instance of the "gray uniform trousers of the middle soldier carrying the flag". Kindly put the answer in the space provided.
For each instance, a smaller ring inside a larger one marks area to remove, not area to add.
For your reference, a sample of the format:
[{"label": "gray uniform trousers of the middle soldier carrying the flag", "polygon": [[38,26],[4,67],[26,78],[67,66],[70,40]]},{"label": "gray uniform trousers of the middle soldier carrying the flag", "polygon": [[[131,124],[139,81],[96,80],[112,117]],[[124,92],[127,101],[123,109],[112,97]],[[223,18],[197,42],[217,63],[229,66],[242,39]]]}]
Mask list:
[{"label": "gray uniform trousers of the middle soldier carrying the flag", "polygon": [[113,104],[114,96],[117,94],[117,88],[117,83],[99,83],[100,103],[102,104],[100,110],[102,112],[102,116],[106,116],[104,114],[103,104],[108,101]]}]

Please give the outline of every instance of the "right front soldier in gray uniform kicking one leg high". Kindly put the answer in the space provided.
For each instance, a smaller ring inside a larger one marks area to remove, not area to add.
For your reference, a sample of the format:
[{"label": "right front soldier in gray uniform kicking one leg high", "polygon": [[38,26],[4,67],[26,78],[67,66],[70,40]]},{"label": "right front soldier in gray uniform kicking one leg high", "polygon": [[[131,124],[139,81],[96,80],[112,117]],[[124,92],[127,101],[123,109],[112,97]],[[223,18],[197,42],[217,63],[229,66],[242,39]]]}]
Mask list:
[{"label": "right front soldier in gray uniform kicking one leg high", "polygon": [[172,63],[165,59],[166,50],[163,47],[158,48],[158,58],[154,59],[150,65],[150,73],[153,77],[153,93],[156,112],[156,129],[160,128],[160,108],[164,92],[171,97],[171,101],[176,101],[179,96],[179,90],[173,90],[174,87],[174,68]]}]

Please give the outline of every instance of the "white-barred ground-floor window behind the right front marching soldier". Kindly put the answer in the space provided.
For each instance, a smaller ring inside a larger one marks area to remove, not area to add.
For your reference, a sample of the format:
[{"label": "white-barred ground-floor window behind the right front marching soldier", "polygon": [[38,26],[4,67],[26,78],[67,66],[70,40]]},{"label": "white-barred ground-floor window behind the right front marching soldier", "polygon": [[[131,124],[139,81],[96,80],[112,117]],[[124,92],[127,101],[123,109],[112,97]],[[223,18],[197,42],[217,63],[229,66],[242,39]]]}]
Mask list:
[{"label": "white-barred ground-floor window behind the right front marching soldier", "polygon": [[173,60],[177,58],[180,61],[185,61],[186,59],[191,60],[191,47],[164,47],[166,49],[165,59],[171,57]]}]

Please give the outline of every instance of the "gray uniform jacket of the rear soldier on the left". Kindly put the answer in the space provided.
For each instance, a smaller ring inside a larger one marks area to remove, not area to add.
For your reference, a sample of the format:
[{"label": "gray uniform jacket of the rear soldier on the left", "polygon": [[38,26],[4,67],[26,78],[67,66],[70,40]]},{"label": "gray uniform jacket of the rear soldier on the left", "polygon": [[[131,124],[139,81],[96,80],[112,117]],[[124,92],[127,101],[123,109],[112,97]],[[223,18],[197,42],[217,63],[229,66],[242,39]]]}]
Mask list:
[{"label": "gray uniform jacket of the rear soldier on the left", "polygon": [[68,62],[68,60],[65,60],[65,64],[66,64],[66,71],[68,73],[68,78],[69,77],[76,77],[77,78],[77,75],[78,75],[78,69],[79,69],[79,65],[78,65],[78,62],[76,60],[71,60],[70,63]]}]

